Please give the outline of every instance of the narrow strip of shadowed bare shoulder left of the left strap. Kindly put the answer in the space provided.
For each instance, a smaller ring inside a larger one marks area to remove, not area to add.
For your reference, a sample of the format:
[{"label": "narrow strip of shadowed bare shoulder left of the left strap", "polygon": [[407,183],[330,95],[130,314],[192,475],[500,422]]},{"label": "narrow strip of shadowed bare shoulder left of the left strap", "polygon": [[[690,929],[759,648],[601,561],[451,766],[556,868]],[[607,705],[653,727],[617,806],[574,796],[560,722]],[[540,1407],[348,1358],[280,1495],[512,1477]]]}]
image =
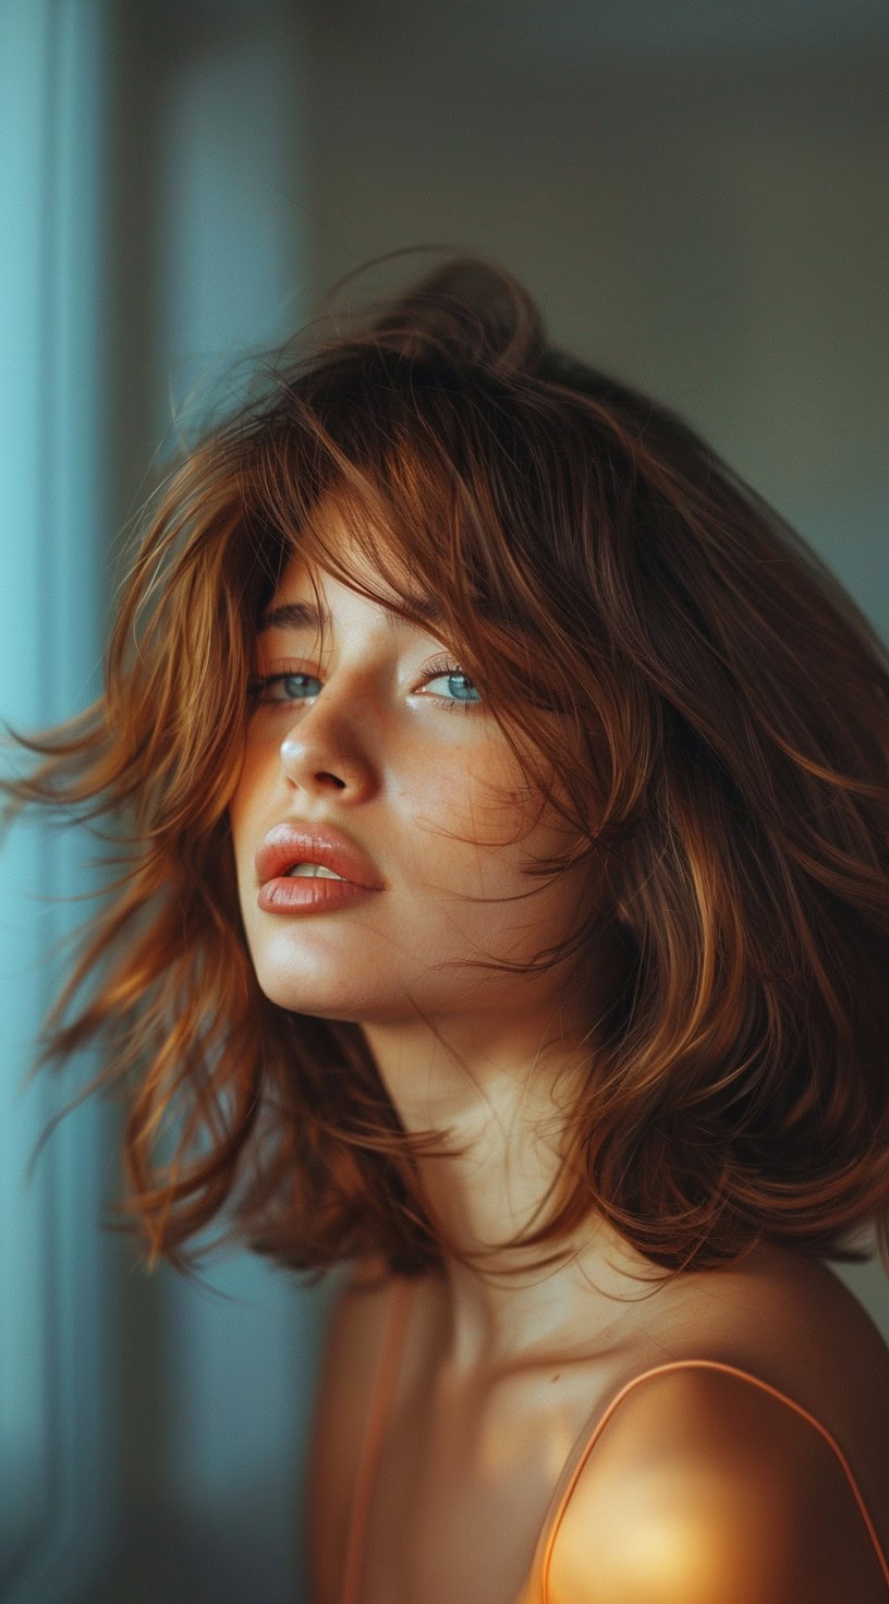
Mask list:
[{"label": "narrow strip of shadowed bare shoulder left of the left strap", "polygon": [[313,1604],[334,1604],[363,1428],[395,1277],[382,1259],[355,1262],[327,1320],[306,1463],[306,1535]]}]

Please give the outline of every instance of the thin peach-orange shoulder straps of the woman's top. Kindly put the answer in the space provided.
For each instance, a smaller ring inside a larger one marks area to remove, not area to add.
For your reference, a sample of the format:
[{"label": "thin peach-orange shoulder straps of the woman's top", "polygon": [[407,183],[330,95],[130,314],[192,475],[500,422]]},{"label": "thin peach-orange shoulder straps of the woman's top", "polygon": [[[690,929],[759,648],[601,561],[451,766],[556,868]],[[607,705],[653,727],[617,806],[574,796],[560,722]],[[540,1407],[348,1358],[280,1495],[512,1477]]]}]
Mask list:
[{"label": "thin peach-orange shoulder straps of the woman's top", "polygon": [[[358,1480],[356,1480],[355,1495],[353,1495],[353,1501],[351,1501],[351,1516],[350,1516],[350,1527],[348,1527],[348,1535],[347,1535],[345,1577],[343,1577],[343,1590],[342,1590],[340,1604],[359,1604],[359,1598],[361,1598],[361,1566],[363,1566],[363,1557],[364,1557],[364,1532],[366,1532],[366,1525],[367,1525],[367,1514],[369,1514],[369,1509],[371,1509],[371,1497],[372,1497],[372,1489],[374,1489],[374,1472],[375,1472],[377,1460],[379,1460],[380,1448],[382,1448],[385,1424],[387,1424],[387,1418],[388,1418],[388,1408],[390,1408],[390,1404],[392,1404],[392,1394],[395,1391],[395,1381],[396,1381],[396,1375],[398,1375],[398,1360],[400,1360],[400,1355],[401,1355],[401,1343],[403,1343],[403,1336],[404,1336],[404,1328],[408,1325],[408,1314],[409,1314],[409,1309],[411,1309],[411,1294],[412,1294],[412,1290],[414,1290],[414,1283],[412,1282],[409,1282],[404,1277],[395,1277],[393,1293],[392,1293],[392,1302],[390,1302],[390,1314],[388,1314],[388,1325],[387,1325],[384,1347],[382,1347],[382,1354],[380,1354],[380,1360],[379,1360],[374,1394],[372,1394],[372,1399],[371,1399],[371,1408],[369,1408],[369,1413],[367,1413],[367,1424],[366,1424],[366,1429],[364,1429],[364,1442],[363,1442],[363,1447],[361,1447],[361,1460],[359,1460],[359,1466],[358,1466]],[[859,1487],[855,1484],[855,1477],[852,1476],[852,1471],[849,1468],[849,1461],[846,1460],[846,1455],[842,1453],[839,1444],[831,1436],[831,1432],[825,1426],[822,1426],[822,1423],[818,1420],[815,1420],[815,1416],[810,1415],[809,1410],[802,1408],[801,1404],[796,1404],[793,1399],[786,1397],[785,1392],[780,1392],[777,1387],[770,1386],[767,1381],[761,1381],[759,1376],[749,1375],[746,1370],[738,1370],[735,1365],[724,1365],[721,1360],[716,1360],[716,1359],[677,1359],[677,1360],[672,1360],[671,1363],[656,1365],[652,1370],[643,1370],[639,1376],[634,1376],[631,1381],[627,1381],[626,1386],[623,1386],[621,1391],[616,1394],[616,1397],[613,1397],[611,1402],[607,1405],[607,1408],[603,1410],[603,1413],[597,1420],[597,1423],[592,1428],[592,1431],[587,1432],[587,1436],[586,1436],[586,1439],[584,1439],[584,1442],[581,1445],[579,1453],[574,1458],[570,1456],[568,1464],[565,1466],[565,1469],[563,1469],[563,1472],[562,1472],[562,1476],[558,1479],[558,1485],[557,1485],[555,1493],[552,1497],[547,1516],[546,1516],[544,1524],[542,1524],[541,1535],[538,1538],[538,1545],[536,1545],[536,1549],[534,1549],[534,1559],[531,1562],[531,1574],[528,1577],[528,1582],[526,1582],[525,1588],[522,1590],[522,1594],[514,1601],[514,1604],[549,1604],[547,1577],[549,1577],[549,1569],[550,1569],[550,1559],[552,1559],[554,1543],[555,1543],[555,1538],[558,1535],[558,1527],[562,1525],[562,1519],[565,1516],[565,1509],[568,1508],[568,1500],[571,1497],[571,1492],[576,1487],[576,1482],[578,1482],[578,1479],[581,1476],[581,1471],[583,1471],[586,1461],[589,1460],[589,1455],[592,1453],[592,1448],[595,1447],[595,1444],[597,1444],[597,1440],[599,1440],[603,1428],[610,1421],[610,1418],[615,1413],[615,1410],[618,1408],[618,1405],[626,1399],[626,1395],[634,1387],[640,1386],[640,1383],[645,1381],[648,1376],[660,1376],[664,1370],[684,1370],[684,1368],[688,1368],[688,1367],[700,1367],[700,1368],[706,1368],[706,1370],[724,1370],[729,1375],[740,1376],[743,1381],[748,1381],[751,1386],[761,1387],[764,1392],[770,1392],[772,1397],[780,1399],[781,1404],[786,1404],[788,1408],[793,1408],[798,1415],[802,1415],[802,1418],[807,1420],[809,1424],[814,1426],[815,1431],[818,1431],[822,1434],[822,1437],[825,1439],[825,1442],[830,1444],[830,1447],[833,1448],[836,1458],[839,1460],[839,1463],[842,1466],[842,1471],[846,1474],[846,1479],[849,1482],[849,1487],[852,1489],[852,1493],[855,1495],[855,1503],[857,1503],[857,1506],[859,1506],[859,1509],[862,1513],[862,1519],[865,1522],[865,1527],[868,1530],[870,1540],[871,1540],[873,1548],[876,1551],[876,1557],[879,1561],[883,1575],[886,1578],[886,1586],[887,1586],[887,1591],[889,1591],[889,1562],[887,1562],[887,1559],[886,1559],[886,1556],[884,1556],[884,1553],[883,1553],[883,1549],[879,1546],[879,1540],[876,1537],[876,1530],[875,1530],[873,1521],[871,1521],[870,1513],[867,1509],[865,1500],[862,1498],[862,1493],[859,1492]]]}]

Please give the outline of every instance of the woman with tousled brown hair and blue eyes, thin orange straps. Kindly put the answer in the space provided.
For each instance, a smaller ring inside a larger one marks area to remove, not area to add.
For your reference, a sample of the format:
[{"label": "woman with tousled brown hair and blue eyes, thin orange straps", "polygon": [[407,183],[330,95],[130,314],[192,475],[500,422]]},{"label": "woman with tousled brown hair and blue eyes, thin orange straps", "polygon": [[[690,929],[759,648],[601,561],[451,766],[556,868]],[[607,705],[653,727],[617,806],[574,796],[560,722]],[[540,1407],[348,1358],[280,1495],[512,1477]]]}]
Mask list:
[{"label": "woman with tousled brown hair and blue eyes, thin orange straps", "polygon": [[485,263],[170,478],[8,789],[130,844],[43,1057],[132,1081],[151,1261],[226,1205],[348,1267],[315,1604],[889,1598],[889,1352],[825,1262],[889,1264],[887,669]]}]

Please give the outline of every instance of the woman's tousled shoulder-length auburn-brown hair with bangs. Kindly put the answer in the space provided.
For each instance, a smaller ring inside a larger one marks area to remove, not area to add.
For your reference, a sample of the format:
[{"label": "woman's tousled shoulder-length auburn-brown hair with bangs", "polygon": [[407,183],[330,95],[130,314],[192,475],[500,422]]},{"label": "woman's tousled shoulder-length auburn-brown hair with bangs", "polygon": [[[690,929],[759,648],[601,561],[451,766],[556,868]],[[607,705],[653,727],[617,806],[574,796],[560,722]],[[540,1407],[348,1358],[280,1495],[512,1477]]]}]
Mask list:
[{"label": "woman's tousled shoulder-length auburn-brown hair with bangs", "polygon": [[600,1214],[677,1274],[765,1238],[867,1258],[876,1222],[889,1266],[887,653],[692,428],[547,345],[473,260],[276,359],[156,494],[103,698],[16,735],[39,762],[11,810],[109,813],[124,853],[39,1063],[103,1041],[125,1229],[180,1269],[223,1205],[221,1240],[310,1272],[441,1259],[416,1158],[443,1132],[408,1136],[358,1025],[263,996],[237,905],[263,610],[294,552],[377,598],[326,549],[331,502],[396,611],[438,603],[589,860],[589,917],[536,962],[570,946],[583,980],[603,921],[621,954],[549,1213],[515,1241],[549,1264]]}]

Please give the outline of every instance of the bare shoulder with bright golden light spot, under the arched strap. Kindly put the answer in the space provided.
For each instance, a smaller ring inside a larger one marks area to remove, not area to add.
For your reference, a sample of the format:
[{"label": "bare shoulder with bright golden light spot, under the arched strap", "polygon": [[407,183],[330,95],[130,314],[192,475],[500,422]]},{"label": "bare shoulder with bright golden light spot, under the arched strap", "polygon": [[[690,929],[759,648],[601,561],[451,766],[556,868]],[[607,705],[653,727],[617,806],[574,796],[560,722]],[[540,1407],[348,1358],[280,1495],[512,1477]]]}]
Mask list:
[{"label": "bare shoulder with bright golden light spot, under the arched strap", "polygon": [[831,1444],[719,1365],[637,1378],[607,1413],[555,1535],[549,1604],[886,1604]]}]

